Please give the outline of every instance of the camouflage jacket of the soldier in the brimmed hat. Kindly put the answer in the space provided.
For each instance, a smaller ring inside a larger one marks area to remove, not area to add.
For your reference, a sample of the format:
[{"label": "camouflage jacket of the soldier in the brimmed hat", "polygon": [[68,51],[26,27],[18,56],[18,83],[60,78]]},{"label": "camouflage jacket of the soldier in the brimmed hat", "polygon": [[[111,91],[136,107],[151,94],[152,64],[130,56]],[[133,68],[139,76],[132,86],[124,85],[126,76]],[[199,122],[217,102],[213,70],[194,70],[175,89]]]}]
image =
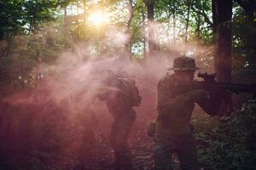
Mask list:
[{"label": "camouflage jacket of the soldier in the brimmed hat", "polygon": [[157,88],[156,122],[174,132],[189,126],[195,103],[210,115],[217,112],[218,107],[212,104],[212,99],[207,93],[202,93],[200,98],[191,100],[193,90],[188,86],[180,86],[174,75],[166,75],[160,79]]}]

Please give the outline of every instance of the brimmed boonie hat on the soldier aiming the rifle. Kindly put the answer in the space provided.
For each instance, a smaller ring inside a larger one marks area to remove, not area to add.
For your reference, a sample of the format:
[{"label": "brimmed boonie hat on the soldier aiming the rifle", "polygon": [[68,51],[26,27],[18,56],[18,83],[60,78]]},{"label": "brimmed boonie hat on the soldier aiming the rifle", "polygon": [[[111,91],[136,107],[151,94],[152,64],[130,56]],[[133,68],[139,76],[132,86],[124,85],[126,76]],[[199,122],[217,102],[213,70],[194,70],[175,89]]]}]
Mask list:
[{"label": "brimmed boonie hat on the soldier aiming the rifle", "polygon": [[200,68],[195,65],[195,59],[185,55],[177,57],[173,61],[173,67],[169,71],[196,71]]}]

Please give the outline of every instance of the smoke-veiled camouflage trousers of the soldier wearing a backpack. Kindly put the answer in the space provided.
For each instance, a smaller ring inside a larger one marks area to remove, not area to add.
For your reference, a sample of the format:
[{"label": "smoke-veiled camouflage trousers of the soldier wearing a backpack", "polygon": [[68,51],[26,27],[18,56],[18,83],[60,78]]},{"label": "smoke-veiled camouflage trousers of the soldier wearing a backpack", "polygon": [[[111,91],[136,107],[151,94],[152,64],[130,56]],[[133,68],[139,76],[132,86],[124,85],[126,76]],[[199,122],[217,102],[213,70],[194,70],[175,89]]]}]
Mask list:
[{"label": "smoke-veiled camouflage trousers of the soldier wearing a backpack", "polygon": [[119,170],[132,169],[131,151],[128,148],[127,139],[135,119],[134,114],[120,117],[114,119],[111,127],[110,144],[114,151],[115,165]]}]

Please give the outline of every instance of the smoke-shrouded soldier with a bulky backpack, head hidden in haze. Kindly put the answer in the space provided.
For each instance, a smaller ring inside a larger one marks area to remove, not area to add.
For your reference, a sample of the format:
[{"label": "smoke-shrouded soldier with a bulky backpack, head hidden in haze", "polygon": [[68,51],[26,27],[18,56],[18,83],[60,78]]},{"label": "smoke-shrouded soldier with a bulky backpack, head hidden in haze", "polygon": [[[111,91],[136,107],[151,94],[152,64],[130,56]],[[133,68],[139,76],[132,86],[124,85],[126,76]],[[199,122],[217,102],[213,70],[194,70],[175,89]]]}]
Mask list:
[{"label": "smoke-shrouded soldier with a bulky backpack, head hidden in haze", "polygon": [[116,169],[132,169],[131,153],[127,139],[131,126],[135,122],[136,112],[133,106],[141,103],[136,82],[124,71],[114,74],[108,71],[105,90],[99,98],[107,102],[108,111],[113,115],[113,124],[110,132],[110,144],[114,151]]}]

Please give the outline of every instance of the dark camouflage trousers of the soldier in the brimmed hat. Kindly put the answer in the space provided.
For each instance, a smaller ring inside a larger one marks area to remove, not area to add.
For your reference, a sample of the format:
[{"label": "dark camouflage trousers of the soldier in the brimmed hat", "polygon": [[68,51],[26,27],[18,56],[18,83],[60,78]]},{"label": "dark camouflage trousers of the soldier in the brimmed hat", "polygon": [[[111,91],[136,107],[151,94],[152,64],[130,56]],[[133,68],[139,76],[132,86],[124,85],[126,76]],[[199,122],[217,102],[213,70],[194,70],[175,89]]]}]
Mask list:
[{"label": "dark camouflage trousers of the soldier in the brimmed hat", "polygon": [[156,170],[172,170],[172,154],[177,153],[183,170],[197,170],[195,139],[191,133],[171,139],[154,137],[154,167]]}]

